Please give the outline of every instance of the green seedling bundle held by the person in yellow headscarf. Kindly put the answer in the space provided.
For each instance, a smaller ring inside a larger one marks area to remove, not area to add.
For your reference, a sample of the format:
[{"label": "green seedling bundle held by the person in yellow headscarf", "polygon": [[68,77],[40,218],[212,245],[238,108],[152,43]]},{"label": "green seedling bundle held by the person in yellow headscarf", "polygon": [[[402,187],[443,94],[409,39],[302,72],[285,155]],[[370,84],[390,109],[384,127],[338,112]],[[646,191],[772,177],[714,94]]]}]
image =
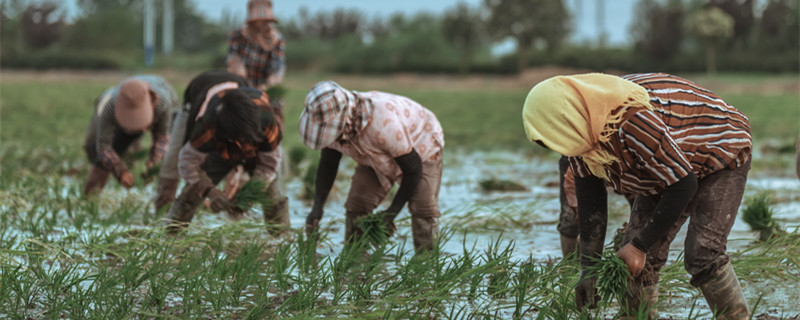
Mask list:
[{"label": "green seedling bundle held by the person in yellow headscarf", "polygon": [[597,276],[597,294],[605,302],[611,302],[611,298],[620,298],[629,294],[628,280],[631,274],[628,266],[617,256],[614,250],[604,250],[599,259],[595,259],[595,264],[587,268],[587,274]]}]

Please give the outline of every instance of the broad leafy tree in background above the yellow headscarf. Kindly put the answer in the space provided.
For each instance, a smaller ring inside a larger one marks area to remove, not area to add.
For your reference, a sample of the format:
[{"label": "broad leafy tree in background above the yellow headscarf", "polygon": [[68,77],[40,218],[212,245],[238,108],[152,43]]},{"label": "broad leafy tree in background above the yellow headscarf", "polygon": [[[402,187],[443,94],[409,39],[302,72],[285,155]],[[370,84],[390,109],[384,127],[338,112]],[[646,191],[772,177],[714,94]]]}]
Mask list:
[{"label": "broad leafy tree in background above the yellow headscarf", "polygon": [[562,0],[484,0],[489,8],[488,28],[498,37],[517,42],[517,68],[527,67],[528,50],[542,41],[548,51],[569,35],[570,15]]}]

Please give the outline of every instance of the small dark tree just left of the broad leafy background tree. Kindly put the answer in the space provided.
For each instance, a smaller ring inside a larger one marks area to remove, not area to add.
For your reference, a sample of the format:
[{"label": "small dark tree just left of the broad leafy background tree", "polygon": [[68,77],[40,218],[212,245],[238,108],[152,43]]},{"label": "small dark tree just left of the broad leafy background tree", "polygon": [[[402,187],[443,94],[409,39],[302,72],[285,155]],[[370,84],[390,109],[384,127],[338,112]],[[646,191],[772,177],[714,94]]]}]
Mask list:
[{"label": "small dark tree just left of the broad leafy background tree", "polygon": [[469,71],[472,53],[483,41],[485,24],[478,10],[470,8],[465,3],[444,13],[442,31],[447,41],[461,53],[458,70],[461,73]]}]

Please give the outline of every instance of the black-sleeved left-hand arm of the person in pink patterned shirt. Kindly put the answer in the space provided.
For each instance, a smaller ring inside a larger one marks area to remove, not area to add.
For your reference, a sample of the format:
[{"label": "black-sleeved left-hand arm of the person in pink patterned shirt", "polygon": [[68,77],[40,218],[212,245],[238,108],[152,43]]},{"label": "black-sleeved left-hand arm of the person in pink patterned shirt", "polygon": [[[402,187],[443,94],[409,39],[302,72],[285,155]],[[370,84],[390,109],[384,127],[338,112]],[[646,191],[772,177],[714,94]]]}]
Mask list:
[{"label": "black-sleeved left-hand arm of the person in pink patterned shirt", "polygon": [[342,153],[330,148],[324,148],[320,152],[319,164],[317,165],[317,178],[314,183],[314,205],[311,213],[306,217],[306,233],[311,234],[319,228],[319,221],[322,220],[323,207],[331,192],[333,182],[336,180],[336,173],[339,171],[339,161]]}]

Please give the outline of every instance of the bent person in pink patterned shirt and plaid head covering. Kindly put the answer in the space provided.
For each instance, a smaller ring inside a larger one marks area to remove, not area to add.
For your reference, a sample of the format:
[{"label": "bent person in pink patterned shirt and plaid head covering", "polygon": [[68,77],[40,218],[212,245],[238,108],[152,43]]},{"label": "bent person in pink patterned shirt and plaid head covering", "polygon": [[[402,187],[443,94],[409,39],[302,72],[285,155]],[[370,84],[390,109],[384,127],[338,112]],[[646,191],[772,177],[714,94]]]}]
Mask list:
[{"label": "bent person in pink patterned shirt and plaid head covering", "polygon": [[319,82],[306,96],[300,136],[311,149],[322,149],[314,204],[306,232],[319,228],[342,154],[357,163],[345,202],[345,239],[363,234],[357,220],[373,213],[400,183],[389,207],[376,214],[393,233],[394,219],[408,202],[414,248],[429,251],[439,233],[439,187],[444,134],[436,116],[409,98],[379,92],[356,92],[332,81]]}]

